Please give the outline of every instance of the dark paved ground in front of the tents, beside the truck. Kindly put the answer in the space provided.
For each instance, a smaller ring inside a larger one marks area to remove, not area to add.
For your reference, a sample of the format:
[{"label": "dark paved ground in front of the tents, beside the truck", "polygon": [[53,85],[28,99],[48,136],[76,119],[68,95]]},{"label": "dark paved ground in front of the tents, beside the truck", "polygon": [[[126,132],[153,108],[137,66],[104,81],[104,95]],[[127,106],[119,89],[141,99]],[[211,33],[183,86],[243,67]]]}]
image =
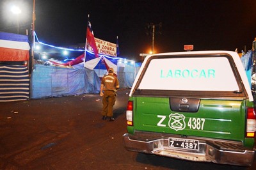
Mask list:
[{"label": "dark paved ground in front of the tents, beside the truck", "polygon": [[0,169],[254,169],[125,150],[129,89],[118,91],[113,122],[97,94],[0,103]]}]

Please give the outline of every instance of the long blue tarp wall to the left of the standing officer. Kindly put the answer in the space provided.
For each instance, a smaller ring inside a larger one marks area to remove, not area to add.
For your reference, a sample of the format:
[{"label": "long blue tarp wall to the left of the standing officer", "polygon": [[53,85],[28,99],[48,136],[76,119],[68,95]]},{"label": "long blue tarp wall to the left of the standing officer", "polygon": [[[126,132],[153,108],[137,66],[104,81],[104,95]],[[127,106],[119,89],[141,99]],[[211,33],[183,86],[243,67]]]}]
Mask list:
[{"label": "long blue tarp wall to the left of the standing officer", "polygon": [[31,75],[31,98],[99,93],[100,79],[87,68],[35,65]]}]

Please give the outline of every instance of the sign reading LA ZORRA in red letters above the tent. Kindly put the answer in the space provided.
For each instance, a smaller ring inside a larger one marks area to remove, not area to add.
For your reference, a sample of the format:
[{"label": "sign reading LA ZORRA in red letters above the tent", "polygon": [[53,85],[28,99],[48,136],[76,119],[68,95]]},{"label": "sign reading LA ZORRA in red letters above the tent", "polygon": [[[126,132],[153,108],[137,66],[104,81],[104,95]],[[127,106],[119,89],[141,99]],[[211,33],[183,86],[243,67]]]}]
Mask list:
[{"label": "sign reading LA ZORRA in red letters above the tent", "polygon": [[[96,47],[98,49],[98,53],[106,56],[116,57],[116,44],[107,42],[104,40],[100,40],[99,38],[95,38]],[[87,44],[87,48],[90,52],[93,52],[92,47]]]}]

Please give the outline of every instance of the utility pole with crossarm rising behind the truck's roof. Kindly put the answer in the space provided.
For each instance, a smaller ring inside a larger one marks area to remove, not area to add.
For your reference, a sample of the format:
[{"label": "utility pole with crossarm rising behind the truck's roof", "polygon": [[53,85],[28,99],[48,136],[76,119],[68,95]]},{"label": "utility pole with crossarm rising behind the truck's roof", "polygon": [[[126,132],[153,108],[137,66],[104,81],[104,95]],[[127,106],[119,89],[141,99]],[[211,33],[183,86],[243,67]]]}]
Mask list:
[{"label": "utility pole with crossarm rising behind the truck's roof", "polygon": [[154,54],[154,45],[155,45],[155,33],[157,29],[157,33],[160,35],[162,34],[162,23],[160,22],[159,24],[154,24],[154,23],[149,23],[145,24],[145,29],[146,29],[146,34],[147,35],[152,35],[152,42],[151,42],[151,51],[152,54]]}]

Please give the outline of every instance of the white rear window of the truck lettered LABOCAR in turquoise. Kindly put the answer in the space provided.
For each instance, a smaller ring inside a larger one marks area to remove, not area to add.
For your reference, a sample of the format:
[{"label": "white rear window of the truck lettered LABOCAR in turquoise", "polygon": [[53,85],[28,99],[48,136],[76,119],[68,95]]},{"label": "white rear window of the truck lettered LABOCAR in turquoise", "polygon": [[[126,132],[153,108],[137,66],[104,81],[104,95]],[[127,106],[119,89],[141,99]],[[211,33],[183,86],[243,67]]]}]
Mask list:
[{"label": "white rear window of the truck lettered LABOCAR in turquoise", "polygon": [[230,62],[227,56],[152,58],[137,89],[240,91]]}]

